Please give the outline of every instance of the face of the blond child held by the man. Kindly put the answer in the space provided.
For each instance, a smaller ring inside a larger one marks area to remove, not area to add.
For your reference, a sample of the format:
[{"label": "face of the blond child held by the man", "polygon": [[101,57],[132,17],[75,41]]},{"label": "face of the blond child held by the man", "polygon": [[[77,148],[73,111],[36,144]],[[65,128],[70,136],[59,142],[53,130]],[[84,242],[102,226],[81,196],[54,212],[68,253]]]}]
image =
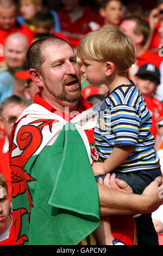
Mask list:
[{"label": "face of the blond child held by the man", "polygon": [[105,63],[88,59],[82,59],[82,63],[80,70],[90,86],[96,87],[106,83]]}]

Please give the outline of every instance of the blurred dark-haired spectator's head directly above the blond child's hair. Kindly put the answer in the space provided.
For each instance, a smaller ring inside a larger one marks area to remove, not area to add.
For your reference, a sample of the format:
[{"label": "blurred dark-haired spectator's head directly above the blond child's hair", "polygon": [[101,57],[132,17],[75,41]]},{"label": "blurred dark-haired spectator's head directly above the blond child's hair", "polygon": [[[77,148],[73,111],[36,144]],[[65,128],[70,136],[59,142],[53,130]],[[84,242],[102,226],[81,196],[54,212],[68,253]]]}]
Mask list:
[{"label": "blurred dark-haired spectator's head directly above the blond child's hair", "polygon": [[120,0],[104,0],[99,9],[103,25],[120,25],[122,21],[122,3]]}]

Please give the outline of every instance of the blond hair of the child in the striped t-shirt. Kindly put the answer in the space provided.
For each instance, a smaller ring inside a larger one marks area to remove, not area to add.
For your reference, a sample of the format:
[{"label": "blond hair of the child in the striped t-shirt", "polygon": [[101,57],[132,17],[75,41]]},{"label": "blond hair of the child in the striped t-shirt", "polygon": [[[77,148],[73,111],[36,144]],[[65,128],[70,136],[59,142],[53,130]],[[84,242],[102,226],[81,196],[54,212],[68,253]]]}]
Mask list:
[{"label": "blond hair of the child in the striped t-shirt", "polygon": [[77,54],[83,60],[112,62],[118,73],[126,72],[136,62],[133,41],[112,25],[86,34],[79,42]]}]

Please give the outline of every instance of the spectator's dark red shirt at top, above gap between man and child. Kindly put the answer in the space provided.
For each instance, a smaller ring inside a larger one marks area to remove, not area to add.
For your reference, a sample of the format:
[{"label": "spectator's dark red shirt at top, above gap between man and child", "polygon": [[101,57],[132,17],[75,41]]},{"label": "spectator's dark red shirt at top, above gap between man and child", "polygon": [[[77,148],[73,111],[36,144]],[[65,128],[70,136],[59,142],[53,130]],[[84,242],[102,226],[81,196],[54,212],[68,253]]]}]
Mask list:
[{"label": "spectator's dark red shirt at top, above gap between man and child", "polygon": [[99,28],[99,16],[89,5],[82,6],[79,0],[61,0],[62,8],[58,10],[61,32],[76,41],[76,47],[83,36]]}]

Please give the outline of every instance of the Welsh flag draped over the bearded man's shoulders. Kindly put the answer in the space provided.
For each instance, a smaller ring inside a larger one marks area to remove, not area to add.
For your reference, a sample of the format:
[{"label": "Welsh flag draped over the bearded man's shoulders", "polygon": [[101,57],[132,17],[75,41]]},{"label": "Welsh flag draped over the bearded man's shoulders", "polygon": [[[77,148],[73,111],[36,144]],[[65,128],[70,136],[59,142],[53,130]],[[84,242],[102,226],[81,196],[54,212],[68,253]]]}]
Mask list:
[{"label": "Welsh flag draped over the bearded man's shoulders", "polygon": [[98,227],[84,131],[95,127],[97,105],[67,122],[34,103],[16,121],[9,152],[17,244],[76,245]]}]

